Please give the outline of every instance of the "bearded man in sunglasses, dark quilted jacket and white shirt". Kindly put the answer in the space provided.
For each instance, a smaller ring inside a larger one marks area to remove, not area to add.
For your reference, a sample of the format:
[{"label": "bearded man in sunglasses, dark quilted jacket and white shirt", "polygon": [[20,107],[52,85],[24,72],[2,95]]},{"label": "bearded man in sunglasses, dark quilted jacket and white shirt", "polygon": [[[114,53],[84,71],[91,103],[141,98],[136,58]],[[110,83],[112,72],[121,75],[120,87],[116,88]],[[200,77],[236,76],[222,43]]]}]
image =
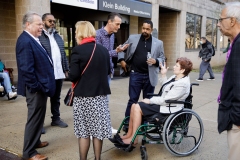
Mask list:
[{"label": "bearded man in sunglasses, dark quilted jacket and white shirt", "polygon": [[[55,30],[55,18],[51,13],[45,13],[42,16],[44,28],[39,40],[53,60],[54,76],[56,81],[56,92],[53,97],[50,97],[52,126],[59,126],[61,128],[68,127],[68,125],[60,119],[60,96],[62,90],[63,79],[68,77],[68,60],[64,50],[64,42],[58,32]],[[42,129],[45,133],[45,129]]]}]

